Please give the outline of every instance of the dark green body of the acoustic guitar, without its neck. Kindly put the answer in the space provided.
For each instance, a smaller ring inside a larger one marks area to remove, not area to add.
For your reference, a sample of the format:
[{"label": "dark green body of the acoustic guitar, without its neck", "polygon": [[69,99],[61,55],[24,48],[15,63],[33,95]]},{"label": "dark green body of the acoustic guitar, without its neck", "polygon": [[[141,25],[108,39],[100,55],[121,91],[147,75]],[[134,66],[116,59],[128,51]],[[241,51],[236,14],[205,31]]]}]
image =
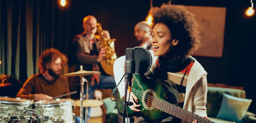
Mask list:
[{"label": "dark green body of the acoustic guitar, without its neck", "polygon": [[[156,97],[158,99],[167,101],[169,103],[177,104],[177,98],[175,97],[172,98],[174,94],[170,93],[168,90],[169,84],[160,79],[148,79],[144,76],[144,74],[143,75],[133,74],[133,79],[134,80],[132,85],[132,92],[138,98],[137,104],[141,104],[141,107],[137,108],[137,109],[140,109],[141,111],[133,112],[128,107],[126,108],[126,110],[128,110],[128,116],[129,117],[142,116],[148,122],[162,121],[163,119],[169,117],[170,114],[167,114],[159,109],[153,108],[152,106],[155,103],[159,103],[154,100]],[[122,102],[124,101],[120,99],[119,92],[117,92],[116,95],[117,95],[116,96],[117,100]],[[123,104],[117,103],[117,109],[119,114],[122,115]]]}]

